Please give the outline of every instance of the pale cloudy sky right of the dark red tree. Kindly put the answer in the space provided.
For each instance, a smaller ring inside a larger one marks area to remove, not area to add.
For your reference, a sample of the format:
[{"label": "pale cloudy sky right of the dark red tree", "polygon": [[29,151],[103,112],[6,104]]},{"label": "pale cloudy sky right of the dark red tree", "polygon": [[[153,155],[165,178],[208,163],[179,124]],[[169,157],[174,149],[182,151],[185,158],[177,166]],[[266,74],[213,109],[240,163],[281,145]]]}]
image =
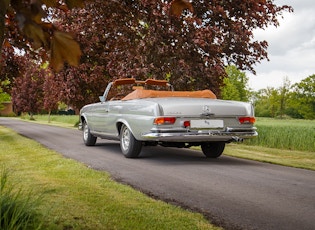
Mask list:
[{"label": "pale cloudy sky right of the dark red tree", "polygon": [[279,18],[280,26],[256,30],[255,39],[269,44],[268,61],[254,66],[256,75],[246,72],[249,87],[257,91],[281,87],[284,79],[291,84],[315,74],[315,1],[275,0],[276,5],[290,5],[293,13]]}]

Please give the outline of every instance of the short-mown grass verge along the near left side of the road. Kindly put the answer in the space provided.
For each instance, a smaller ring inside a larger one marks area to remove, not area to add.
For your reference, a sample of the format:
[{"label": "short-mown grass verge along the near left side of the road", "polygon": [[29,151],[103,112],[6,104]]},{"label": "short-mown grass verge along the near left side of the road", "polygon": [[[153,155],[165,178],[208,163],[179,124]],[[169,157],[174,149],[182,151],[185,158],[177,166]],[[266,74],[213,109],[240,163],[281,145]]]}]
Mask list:
[{"label": "short-mown grass verge along the near left side of the road", "polygon": [[1,126],[0,143],[12,183],[42,197],[41,229],[218,229]]}]

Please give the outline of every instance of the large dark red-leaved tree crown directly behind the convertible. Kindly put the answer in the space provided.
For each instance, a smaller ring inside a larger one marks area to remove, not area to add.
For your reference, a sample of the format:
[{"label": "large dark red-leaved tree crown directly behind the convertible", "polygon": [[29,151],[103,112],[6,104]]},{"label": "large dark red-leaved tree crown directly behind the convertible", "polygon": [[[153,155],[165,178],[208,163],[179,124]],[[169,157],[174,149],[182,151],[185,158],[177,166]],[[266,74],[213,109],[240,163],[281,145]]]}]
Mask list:
[{"label": "large dark red-leaved tree crown directly behind the convertible", "polygon": [[177,89],[211,88],[219,94],[225,63],[253,70],[267,57],[267,43],[253,41],[253,29],[278,25],[276,16],[291,10],[272,1],[194,1],[174,17],[169,3],[95,0],[84,10],[57,11],[58,26],[76,31],[82,63],[104,66],[109,79],[168,78]]}]

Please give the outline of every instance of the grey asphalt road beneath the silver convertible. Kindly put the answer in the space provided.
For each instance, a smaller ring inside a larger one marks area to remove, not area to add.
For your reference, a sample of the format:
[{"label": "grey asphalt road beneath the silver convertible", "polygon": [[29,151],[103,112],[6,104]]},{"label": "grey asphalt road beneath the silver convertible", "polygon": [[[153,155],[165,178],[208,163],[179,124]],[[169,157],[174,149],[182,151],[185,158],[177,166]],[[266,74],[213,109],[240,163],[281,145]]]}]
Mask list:
[{"label": "grey asphalt road beneath the silver convertible", "polygon": [[86,147],[75,129],[10,118],[0,118],[0,126],[155,198],[202,212],[225,229],[315,229],[314,171],[163,147],[144,147],[139,159],[126,159],[118,142]]}]

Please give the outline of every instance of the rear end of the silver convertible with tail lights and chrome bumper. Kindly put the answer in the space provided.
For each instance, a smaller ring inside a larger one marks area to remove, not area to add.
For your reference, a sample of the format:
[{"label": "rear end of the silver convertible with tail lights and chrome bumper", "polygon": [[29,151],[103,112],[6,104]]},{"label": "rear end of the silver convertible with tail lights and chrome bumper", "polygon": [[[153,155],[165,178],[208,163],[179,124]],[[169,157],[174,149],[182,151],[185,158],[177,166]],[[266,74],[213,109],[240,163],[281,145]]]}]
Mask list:
[{"label": "rear end of the silver convertible with tail lights and chrome bumper", "polygon": [[256,137],[250,103],[205,98],[154,98],[160,114],[145,140],[160,142],[232,142]]}]

